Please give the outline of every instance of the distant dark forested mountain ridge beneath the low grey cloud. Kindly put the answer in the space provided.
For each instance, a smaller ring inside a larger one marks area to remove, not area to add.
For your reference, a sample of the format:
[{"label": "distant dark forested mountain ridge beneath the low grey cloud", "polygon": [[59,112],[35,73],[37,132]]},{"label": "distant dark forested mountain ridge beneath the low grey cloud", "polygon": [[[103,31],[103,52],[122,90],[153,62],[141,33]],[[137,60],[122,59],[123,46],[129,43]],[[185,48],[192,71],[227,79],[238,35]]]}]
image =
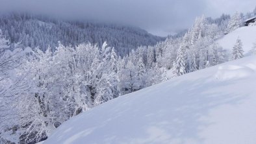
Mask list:
[{"label": "distant dark forested mountain ridge beneath the low grey cloud", "polygon": [[125,25],[92,23],[88,21],[67,21],[47,16],[31,14],[2,14],[0,29],[12,44],[20,43],[21,47],[56,47],[58,42],[63,45],[75,46],[79,43],[102,45],[107,42],[115,47],[119,55],[128,54],[131,49],[139,46],[155,45],[166,38],[153,36],[146,30]]}]

